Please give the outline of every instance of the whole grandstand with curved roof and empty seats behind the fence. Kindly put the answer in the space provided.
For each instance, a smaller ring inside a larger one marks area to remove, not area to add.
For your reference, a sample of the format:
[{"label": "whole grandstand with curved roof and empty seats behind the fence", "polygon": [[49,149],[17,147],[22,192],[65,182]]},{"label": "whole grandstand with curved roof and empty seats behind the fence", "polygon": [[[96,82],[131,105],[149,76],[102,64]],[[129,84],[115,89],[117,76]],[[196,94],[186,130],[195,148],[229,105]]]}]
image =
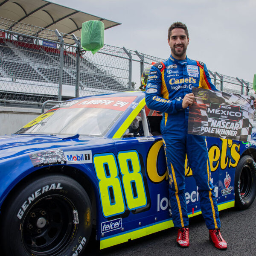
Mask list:
[{"label": "whole grandstand with curved roof and empty seats behind the fence", "polygon": [[80,96],[127,90],[74,40],[87,20],[120,24],[46,0],[0,0],[0,105],[41,106],[74,97],[76,87]]}]

